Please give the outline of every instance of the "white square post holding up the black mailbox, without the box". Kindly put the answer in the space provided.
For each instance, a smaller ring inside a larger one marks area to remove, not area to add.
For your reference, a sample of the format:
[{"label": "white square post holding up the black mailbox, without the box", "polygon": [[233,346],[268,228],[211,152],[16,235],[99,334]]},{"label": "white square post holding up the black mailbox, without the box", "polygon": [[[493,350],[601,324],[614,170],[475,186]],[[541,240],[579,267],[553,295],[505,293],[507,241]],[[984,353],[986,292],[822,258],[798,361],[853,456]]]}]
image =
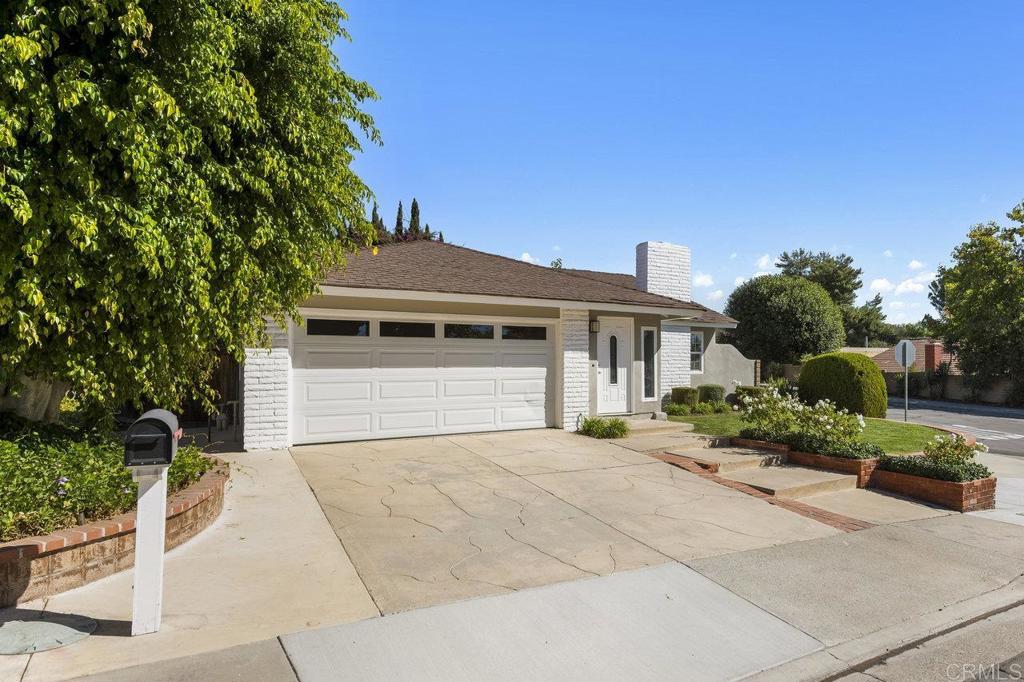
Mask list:
[{"label": "white square post holding up the black mailbox, without the box", "polygon": [[167,467],[132,469],[138,481],[135,512],[135,583],[132,589],[131,634],[160,630],[164,600],[164,532],[167,522]]}]

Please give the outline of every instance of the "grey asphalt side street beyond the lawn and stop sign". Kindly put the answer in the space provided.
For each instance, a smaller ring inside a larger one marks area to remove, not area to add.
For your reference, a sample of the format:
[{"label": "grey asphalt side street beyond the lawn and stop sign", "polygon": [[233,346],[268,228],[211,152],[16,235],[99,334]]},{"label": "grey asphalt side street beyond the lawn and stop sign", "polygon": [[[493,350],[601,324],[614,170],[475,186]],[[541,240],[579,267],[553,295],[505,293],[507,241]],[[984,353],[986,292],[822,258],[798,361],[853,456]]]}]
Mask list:
[{"label": "grey asphalt side street beyond the lawn and stop sign", "polygon": [[[903,421],[902,398],[890,398],[887,416]],[[989,452],[1024,457],[1024,410],[912,398],[908,419],[967,431]]]}]

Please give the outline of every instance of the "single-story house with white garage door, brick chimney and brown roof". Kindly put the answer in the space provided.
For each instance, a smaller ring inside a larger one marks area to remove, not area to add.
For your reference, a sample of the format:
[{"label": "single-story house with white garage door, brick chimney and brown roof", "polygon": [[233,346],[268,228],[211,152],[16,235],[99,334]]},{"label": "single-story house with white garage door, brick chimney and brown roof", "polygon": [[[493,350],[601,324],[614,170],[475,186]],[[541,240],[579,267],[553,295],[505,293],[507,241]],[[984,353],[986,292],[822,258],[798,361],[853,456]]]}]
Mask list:
[{"label": "single-story house with white garage door, brick chimney and brown roof", "polygon": [[243,368],[247,450],[653,413],[674,386],[755,381],[690,299],[690,252],[636,247],[636,275],[450,244],[364,250]]}]

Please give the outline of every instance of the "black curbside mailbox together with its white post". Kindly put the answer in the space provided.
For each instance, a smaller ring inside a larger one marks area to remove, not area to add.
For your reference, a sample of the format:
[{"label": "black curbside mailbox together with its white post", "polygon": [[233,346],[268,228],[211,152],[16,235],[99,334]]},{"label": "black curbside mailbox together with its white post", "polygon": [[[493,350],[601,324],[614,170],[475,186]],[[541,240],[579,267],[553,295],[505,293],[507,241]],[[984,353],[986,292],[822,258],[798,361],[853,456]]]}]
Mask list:
[{"label": "black curbside mailbox together with its white post", "polygon": [[125,434],[125,466],[138,483],[135,511],[135,580],[131,634],[160,630],[164,599],[164,536],[167,523],[167,468],[178,450],[177,417],[151,410]]}]

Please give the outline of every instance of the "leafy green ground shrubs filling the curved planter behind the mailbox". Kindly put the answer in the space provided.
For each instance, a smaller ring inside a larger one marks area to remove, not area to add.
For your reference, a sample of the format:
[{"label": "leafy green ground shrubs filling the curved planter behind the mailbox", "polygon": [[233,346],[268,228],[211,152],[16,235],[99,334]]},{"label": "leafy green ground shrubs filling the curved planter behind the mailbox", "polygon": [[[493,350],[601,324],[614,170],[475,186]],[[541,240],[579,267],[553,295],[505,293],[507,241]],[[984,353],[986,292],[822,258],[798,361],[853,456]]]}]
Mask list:
[{"label": "leafy green ground shrubs filling the curved planter behind the mailbox", "polygon": [[[194,446],[180,447],[168,470],[176,492],[213,463]],[[0,423],[0,542],[45,535],[135,507],[136,484],[113,433],[59,425]]]}]

